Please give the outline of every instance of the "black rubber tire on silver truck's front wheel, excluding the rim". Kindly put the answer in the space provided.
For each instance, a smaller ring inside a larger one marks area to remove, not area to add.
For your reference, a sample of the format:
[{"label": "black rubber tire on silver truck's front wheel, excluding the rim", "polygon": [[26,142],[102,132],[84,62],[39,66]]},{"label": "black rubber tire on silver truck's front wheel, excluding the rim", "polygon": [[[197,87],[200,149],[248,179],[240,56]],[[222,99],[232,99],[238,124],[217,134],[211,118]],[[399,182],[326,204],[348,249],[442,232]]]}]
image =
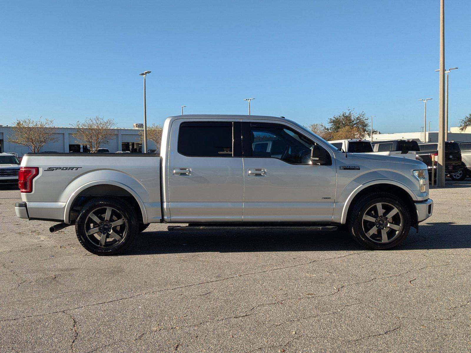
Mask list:
[{"label": "black rubber tire on silver truck's front wheel, excluding the rim", "polygon": [[[369,239],[364,230],[363,230],[363,215],[365,214],[366,210],[373,206],[375,203],[389,203],[396,207],[398,211],[401,213],[402,220],[403,220],[403,229],[401,233],[394,239],[388,243],[382,244],[377,243]],[[400,245],[407,237],[409,233],[409,229],[411,226],[411,217],[410,211],[407,208],[406,204],[401,201],[398,197],[388,194],[388,193],[376,193],[370,196],[366,196],[361,198],[357,201],[353,212],[350,216],[349,222],[349,229],[352,233],[353,238],[360,244],[365,246],[368,249],[391,249],[398,245]]]}]

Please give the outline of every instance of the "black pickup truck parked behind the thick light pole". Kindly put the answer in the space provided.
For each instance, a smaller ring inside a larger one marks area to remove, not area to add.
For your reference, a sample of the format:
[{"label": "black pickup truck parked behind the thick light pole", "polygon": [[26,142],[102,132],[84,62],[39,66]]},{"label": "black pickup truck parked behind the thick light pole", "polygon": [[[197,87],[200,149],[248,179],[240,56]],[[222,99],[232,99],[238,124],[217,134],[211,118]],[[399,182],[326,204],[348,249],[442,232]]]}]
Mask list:
[{"label": "black pickup truck parked behind the thick light pole", "polygon": [[[417,152],[417,156],[420,157],[422,162],[427,165],[429,174],[432,172],[432,155],[435,156],[435,164],[433,168],[437,168],[438,159],[438,143],[437,142],[425,142],[419,144],[420,152]],[[460,145],[456,142],[446,141],[445,142],[445,171],[447,174],[455,173],[461,170],[461,150]],[[430,175],[429,175],[430,176]]]}]

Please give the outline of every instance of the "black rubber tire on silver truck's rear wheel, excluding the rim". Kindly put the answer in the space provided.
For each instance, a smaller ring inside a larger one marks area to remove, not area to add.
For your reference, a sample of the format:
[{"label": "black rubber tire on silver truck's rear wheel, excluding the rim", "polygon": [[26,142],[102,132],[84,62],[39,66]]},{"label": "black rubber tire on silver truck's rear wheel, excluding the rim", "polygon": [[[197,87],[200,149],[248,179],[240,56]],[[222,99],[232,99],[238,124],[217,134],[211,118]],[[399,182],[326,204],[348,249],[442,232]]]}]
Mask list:
[{"label": "black rubber tire on silver truck's rear wheel, excluding the rim", "polygon": [[[99,208],[112,207],[122,214],[128,229],[122,241],[109,248],[100,248],[91,242],[85,233],[85,222],[89,214]],[[89,201],[82,208],[77,221],[75,222],[75,233],[81,245],[89,252],[96,255],[114,255],[127,249],[138,232],[138,217],[136,211],[125,201],[112,197],[100,197]]]}]

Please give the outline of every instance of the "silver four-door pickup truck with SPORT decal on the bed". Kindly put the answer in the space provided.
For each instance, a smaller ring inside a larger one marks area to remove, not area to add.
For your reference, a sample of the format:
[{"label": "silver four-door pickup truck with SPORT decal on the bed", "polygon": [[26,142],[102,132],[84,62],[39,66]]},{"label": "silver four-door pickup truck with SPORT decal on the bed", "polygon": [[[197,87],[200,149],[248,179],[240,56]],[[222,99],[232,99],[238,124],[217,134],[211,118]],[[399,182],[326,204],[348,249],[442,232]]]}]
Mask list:
[{"label": "silver four-door pickup truck with SPORT decal on the bed", "polygon": [[74,224],[97,255],[127,249],[159,222],[189,224],[180,230],[347,225],[366,248],[390,249],[433,208],[421,161],[340,152],[291,120],[255,115],[169,117],[160,155],[28,153],[19,186],[18,217],[60,222],[51,231]]}]

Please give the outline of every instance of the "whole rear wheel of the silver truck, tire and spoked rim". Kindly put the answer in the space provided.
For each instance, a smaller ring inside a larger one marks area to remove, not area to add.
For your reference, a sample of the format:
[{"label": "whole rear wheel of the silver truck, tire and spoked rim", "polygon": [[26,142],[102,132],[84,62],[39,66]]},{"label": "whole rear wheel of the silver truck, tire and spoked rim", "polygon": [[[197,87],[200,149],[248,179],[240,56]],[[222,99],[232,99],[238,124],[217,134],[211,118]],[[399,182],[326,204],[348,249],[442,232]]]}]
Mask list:
[{"label": "whole rear wheel of the silver truck, tire and spoked rim", "polygon": [[108,196],[86,203],[75,222],[80,244],[95,255],[115,255],[128,249],[138,230],[134,208],[122,199]]}]

